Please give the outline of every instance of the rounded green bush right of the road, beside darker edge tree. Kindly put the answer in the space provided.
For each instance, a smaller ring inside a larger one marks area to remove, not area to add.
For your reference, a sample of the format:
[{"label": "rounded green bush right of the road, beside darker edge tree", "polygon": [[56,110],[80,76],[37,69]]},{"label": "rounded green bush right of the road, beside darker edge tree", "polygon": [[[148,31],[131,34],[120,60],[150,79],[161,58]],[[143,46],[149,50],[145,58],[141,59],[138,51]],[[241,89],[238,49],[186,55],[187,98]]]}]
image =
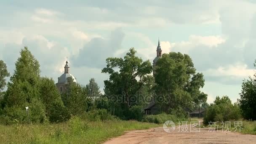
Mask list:
[{"label": "rounded green bush right of the road, beside darker edge tree", "polygon": [[237,104],[232,104],[228,96],[217,96],[213,104],[206,109],[203,123],[208,125],[208,122],[238,120],[240,117],[240,108]]}]

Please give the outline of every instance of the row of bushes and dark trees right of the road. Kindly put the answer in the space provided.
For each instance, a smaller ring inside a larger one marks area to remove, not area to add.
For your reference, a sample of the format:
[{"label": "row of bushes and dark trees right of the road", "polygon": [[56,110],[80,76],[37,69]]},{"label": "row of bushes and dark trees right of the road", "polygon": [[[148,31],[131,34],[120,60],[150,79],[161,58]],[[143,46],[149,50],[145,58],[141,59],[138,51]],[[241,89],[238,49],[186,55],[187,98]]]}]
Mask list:
[{"label": "row of bushes and dark trees right of the road", "polygon": [[228,96],[217,96],[213,104],[206,109],[203,123],[208,125],[209,122],[239,119],[256,120],[256,74],[248,80],[243,80],[240,99],[237,99],[236,103],[232,104]]}]

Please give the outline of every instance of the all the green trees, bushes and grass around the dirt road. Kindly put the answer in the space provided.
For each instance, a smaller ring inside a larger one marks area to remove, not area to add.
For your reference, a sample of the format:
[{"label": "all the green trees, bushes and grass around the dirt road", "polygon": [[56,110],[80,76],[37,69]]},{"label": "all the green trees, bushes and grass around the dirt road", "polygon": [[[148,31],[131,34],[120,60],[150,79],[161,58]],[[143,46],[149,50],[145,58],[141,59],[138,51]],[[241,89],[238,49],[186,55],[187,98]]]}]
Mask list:
[{"label": "all the green trees, bushes and grass around the dirt road", "polygon": [[[101,143],[126,130],[155,127],[167,120],[187,121],[187,109],[200,107],[206,109],[205,125],[238,120],[241,115],[256,120],[256,75],[243,81],[238,103],[217,96],[209,105],[207,94],[200,91],[203,74],[187,54],[163,54],[154,75],[150,61],[136,56],[134,48],[123,58],[107,58],[106,63],[101,72],[109,78],[101,94],[94,78],[85,86],[69,79],[65,91],[59,93],[52,78],[40,76],[40,64],[27,47],[21,49],[3,92],[10,75],[0,61],[0,143]],[[160,114],[144,115],[143,108],[152,99]],[[28,115],[32,125],[27,124]],[[242,133],[255,131],[255,121],[244,121]]]}]

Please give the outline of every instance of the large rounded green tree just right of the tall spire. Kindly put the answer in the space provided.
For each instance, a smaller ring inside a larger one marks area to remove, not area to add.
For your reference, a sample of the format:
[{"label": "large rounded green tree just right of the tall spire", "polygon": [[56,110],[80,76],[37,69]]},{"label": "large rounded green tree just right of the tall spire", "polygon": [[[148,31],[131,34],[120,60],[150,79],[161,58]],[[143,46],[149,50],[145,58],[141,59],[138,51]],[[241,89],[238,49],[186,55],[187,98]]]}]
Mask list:
[{"label": "large rounded green tree just right of the tall spire", "polygon": [[182,107],[196,107],[205,102],[207,95],[200,92],[204,79],[196,73],[192,59],[180,52],[165,53],[155,66],[155,92],[163,95],[165,103],[161,107],[166,112]]}]

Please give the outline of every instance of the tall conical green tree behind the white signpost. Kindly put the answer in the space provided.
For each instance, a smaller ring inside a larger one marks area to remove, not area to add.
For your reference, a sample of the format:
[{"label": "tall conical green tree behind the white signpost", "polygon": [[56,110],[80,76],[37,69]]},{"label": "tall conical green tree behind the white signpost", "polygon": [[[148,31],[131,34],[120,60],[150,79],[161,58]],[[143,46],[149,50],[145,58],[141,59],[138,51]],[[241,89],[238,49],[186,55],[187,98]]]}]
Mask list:
[{"label": "tall conical green tree behind the white signpost", "polygon": [[27,47],[21,49],[20,55],[3,98],[3,113],[9,121],[24,123],[25,107],[29,106],[31,121],[43,123],[47,120],[40,99],[40,64]]}]

